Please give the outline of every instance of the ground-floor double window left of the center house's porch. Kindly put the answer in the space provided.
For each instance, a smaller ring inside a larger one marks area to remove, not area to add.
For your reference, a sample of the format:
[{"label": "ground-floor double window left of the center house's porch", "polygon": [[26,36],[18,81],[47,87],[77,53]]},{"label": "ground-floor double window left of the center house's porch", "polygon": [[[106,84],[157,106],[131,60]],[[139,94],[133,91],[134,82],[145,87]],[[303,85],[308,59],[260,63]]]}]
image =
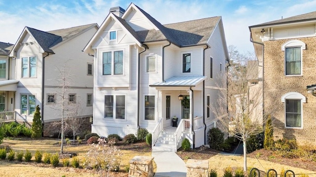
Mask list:
[{"label": "ground-floor double window left of the center house's porch", "polygon": [[105,95],[104,118],[125,119],[125,95]]}]

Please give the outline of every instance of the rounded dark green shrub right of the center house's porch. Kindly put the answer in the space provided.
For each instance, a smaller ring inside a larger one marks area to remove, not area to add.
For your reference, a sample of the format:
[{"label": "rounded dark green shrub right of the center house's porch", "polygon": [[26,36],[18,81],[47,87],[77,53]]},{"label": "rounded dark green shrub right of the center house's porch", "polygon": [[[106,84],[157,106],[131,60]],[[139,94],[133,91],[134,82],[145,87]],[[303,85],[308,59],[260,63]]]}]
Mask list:
[{"label": "rounded dark green shrub right of the center house's porch", "polygon": [[211,128],[207,133],[210,148],[221,150],[224,143],[224,133],[219,128]]}]

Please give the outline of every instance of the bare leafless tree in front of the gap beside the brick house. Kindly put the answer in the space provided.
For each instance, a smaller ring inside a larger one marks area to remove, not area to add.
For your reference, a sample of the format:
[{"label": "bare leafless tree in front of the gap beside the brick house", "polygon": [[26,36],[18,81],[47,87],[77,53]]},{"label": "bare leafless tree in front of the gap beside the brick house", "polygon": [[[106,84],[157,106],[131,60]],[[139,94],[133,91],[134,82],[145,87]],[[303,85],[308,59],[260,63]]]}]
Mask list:
[{"label": "bare leafless tree in front of the gap beside the brick house", "polygon": [[229,54],[228,89],[220,94],[217,105],[222,106],[212,109],[220,120],[221,130],[243,141],[243,170],[246,171],[247,139],[263,131],[262,82],[258,80],[258,62],[251,61],[253,55],[240,54],[234,46],[229,47]]}]

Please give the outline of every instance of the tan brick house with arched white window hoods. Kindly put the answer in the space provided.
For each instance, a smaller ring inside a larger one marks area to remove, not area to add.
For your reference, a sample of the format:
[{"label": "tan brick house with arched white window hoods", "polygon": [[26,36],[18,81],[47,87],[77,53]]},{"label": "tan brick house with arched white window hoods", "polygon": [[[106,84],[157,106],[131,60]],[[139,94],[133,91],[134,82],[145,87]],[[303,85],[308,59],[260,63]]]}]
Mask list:
[{"label": "tan brick house with arched white window hoods", "polygon": [[275,139],[316,143],[316,12],[250,26]]}]

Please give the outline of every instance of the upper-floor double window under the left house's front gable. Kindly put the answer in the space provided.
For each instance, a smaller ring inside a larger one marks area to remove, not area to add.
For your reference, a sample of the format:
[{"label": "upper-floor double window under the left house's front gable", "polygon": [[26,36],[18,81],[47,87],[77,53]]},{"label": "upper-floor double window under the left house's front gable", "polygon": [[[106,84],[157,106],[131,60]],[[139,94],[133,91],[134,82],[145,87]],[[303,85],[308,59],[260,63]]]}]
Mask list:
[{"label": "upper-floor double window under the left house's front gable", "polygon": [[24,57],[22,58],[22,77],[36,77],[36,57]]}]

